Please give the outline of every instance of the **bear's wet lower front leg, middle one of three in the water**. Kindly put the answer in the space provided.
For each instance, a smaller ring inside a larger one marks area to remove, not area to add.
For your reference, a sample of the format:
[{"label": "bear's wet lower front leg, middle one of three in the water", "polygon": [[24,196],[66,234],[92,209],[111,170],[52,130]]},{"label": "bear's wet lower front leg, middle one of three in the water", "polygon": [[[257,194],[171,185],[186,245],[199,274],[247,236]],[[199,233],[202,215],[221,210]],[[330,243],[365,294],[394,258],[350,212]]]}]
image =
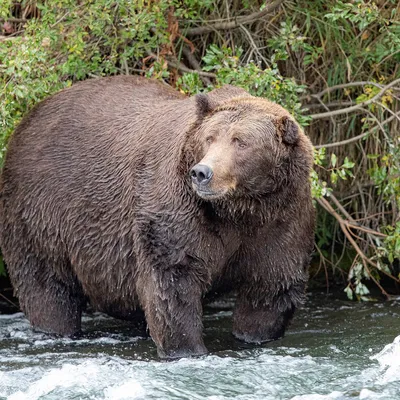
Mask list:
[{"label": "bear's wet lower front leg, middle one of three in the water", "polygon": [[207,353],[203,343],[202,284],[182,267],[153,268],[144,278],[141,303],[160,358]]}]

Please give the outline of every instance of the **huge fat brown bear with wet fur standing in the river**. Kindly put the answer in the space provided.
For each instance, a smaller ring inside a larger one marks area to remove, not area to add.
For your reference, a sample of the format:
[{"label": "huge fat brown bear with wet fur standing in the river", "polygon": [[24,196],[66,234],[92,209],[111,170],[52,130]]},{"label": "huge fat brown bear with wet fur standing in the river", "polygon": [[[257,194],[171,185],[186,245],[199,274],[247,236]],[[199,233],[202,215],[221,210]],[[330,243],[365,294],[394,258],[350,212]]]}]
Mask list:
[{"label": "huge fat brown bear with wet fur standing in the river", "polygon": [[1,248],[33,327],[75,335],[87,301],[144,312],[163,358],[206,353],[202,304],[237,292],[233,334],[283,336],[313,250],[312,146],[279,105],[140,77],[38,104],[1,176]]}]

